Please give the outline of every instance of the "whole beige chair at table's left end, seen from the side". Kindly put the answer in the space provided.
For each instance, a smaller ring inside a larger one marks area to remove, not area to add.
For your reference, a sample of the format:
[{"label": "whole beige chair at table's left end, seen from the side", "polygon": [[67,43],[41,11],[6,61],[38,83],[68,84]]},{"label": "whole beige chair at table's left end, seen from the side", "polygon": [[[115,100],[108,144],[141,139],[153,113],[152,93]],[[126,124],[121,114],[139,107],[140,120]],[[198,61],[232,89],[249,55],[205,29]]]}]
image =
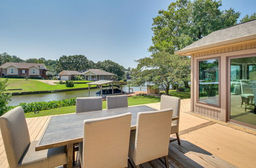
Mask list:
[{"label": "whole beige chair at table's left end, seen from the side", "polygon": [[23,107],[15,107],[1,116],[0,128],[11,168],[57,167],[67,164],[65,147],[35,151],[37,141],[30,142]]}]

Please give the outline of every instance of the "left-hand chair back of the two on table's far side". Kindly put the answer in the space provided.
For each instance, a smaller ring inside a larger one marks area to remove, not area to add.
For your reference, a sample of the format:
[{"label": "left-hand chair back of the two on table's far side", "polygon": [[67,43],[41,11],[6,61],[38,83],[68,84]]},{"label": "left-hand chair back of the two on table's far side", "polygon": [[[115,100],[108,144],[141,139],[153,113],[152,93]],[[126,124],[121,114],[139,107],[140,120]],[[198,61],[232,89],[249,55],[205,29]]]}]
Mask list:
[{"label": "left-hand chair back of the two on table's far side", "polygon": [[102,97],[76,98],[76,113],[102,110]]}]

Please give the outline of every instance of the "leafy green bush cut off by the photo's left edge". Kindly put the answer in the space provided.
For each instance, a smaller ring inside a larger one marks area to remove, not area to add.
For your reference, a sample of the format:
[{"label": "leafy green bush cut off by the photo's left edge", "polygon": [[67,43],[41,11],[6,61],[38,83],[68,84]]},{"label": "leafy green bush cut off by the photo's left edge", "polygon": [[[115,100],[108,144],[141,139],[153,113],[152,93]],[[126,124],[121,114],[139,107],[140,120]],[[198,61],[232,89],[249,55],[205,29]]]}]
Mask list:
[{"label": "leafy green bush cut off by the photo's left edge", "polygon": [[6,87],[8,86],[8,79],[0,80],[0,116],[2,116],[6,111],[8,111],[8,101],[11,100],[9,94],[6,94]]}]

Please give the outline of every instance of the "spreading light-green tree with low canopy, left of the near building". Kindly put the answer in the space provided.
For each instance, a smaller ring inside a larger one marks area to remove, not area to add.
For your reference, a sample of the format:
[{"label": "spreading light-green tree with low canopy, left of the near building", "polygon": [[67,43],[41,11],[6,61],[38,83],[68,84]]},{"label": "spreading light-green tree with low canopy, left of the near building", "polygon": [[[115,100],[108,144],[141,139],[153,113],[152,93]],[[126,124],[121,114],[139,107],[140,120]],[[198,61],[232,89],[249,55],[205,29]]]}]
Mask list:
[{"label": "spreading light-green tree with low canopy, left of the near building", "polygon": [[[162,51],[137,60],[137,68],[133,69],[133,85],[141,86],[154,83],[154,87],[161,87],[165,94],[169,95],[170,85],[187,80],[187,76],[190,74],[190,67],[186,63],[184,64],[184,60],[188,60],[188,58]],[[185,72],[188,74],[184,74],[184,76],[180,74]]]}]

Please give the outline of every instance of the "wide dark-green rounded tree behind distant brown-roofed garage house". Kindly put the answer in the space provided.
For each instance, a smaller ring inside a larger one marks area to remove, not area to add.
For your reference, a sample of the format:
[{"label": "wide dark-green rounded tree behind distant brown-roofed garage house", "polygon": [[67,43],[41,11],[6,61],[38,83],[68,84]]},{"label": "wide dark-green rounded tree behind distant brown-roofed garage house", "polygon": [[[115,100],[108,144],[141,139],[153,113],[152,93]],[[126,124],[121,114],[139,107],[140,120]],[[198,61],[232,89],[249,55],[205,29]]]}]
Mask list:
[{"label": "wide dark-green rounded tree behind distant brown-roofed garage house", "polygon": [[84,55],[63,55],[58,60],[57,72],[62,70],[81,71],[89,69],[91,64],[91,61]]}]

